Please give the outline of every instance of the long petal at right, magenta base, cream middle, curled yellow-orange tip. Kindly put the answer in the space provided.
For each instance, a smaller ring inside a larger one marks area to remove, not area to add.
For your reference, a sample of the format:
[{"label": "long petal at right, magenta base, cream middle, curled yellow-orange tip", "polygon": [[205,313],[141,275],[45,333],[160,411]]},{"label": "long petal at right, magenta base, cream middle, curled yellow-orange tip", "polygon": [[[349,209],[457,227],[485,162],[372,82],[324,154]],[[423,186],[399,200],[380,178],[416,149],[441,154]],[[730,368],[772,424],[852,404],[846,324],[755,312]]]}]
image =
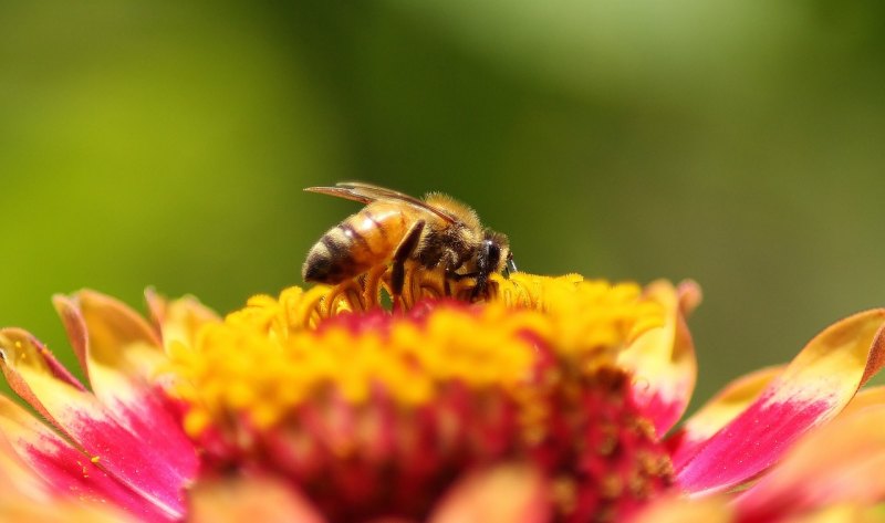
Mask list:
[{"label": "long petal at right, magenta base, cream middle, curled yellow-orange tip", "polygon": [[833,418],[885,356],[885,308],[855,314],[824,330],[690,460],[678,483],[702,493],[739,484],[774,463],[809,429]]}]

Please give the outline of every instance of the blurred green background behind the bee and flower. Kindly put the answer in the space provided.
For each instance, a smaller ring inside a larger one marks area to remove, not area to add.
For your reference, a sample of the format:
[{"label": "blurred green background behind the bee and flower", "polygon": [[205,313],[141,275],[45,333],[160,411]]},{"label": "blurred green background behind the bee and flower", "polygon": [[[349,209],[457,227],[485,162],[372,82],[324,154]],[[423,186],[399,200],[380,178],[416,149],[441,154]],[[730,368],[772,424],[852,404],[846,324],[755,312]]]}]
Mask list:
[{"label": "blurred green background behind the bee and flower", "polygon": [[59,353],[55,292],[300,284],[345,179],[696,279],[696,400],[885,304],[885,3],[183,3],[0,4],[0,324]]}]

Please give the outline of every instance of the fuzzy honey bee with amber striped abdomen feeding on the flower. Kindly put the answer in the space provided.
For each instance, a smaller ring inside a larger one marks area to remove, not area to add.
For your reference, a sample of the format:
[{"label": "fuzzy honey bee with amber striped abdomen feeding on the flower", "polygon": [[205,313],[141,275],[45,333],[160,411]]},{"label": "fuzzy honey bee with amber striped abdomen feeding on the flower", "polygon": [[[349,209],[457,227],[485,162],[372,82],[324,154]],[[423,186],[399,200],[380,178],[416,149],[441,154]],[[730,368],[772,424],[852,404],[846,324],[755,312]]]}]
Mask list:
[{"label": "fuzzy honey bee with amber striped abdomen feeding on the flower", "polygon": [[392,263],[391,292],[398,296],[405,262],[414,260],[425,269],[441,268],[455,280],[475,278],[476,299],[491,273],[517,270],[508,238],[482,227],[473,209],[449,196],[430,192],[418,199],[355,181],[304,190],[366,205],[311,248],[301,269],[305,282],[340,283]]}]

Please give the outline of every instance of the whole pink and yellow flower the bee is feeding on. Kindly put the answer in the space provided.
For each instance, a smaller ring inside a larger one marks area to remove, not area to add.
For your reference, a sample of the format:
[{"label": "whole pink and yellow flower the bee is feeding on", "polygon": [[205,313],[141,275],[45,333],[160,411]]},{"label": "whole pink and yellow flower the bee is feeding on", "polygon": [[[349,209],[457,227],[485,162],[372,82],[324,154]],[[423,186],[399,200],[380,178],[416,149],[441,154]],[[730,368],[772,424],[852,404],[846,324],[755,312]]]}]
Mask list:
[{"label": "whole pink and yellow flower the bee is feeding on", "polygon": [[885,310],[674,430],[696,376],[693,282],[516,273],[473,303],[468,279],[409,266],[388,311],[387,278],[223,320],[153,292],[150,321],[56,296],[88,387],[0,331],[7,380],[46,421],[0,398],[0,516],[749,522],[867,516],[885,496],[885,390],[856,394],[885,359]]}]

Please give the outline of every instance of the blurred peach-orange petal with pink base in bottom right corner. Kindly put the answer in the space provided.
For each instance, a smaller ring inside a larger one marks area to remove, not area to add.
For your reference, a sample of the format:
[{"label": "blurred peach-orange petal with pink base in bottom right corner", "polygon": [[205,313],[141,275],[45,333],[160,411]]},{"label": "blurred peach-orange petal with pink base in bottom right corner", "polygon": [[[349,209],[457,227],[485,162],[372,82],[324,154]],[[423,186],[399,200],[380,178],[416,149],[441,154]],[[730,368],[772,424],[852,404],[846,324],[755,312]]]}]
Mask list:
[{"label": "blurred peach-orange petal with pink base in bottom right corner", "polygon": [[840,417],[795,444],[735,500],[741,521],[772,521],[885,498],[885,405]]}]

